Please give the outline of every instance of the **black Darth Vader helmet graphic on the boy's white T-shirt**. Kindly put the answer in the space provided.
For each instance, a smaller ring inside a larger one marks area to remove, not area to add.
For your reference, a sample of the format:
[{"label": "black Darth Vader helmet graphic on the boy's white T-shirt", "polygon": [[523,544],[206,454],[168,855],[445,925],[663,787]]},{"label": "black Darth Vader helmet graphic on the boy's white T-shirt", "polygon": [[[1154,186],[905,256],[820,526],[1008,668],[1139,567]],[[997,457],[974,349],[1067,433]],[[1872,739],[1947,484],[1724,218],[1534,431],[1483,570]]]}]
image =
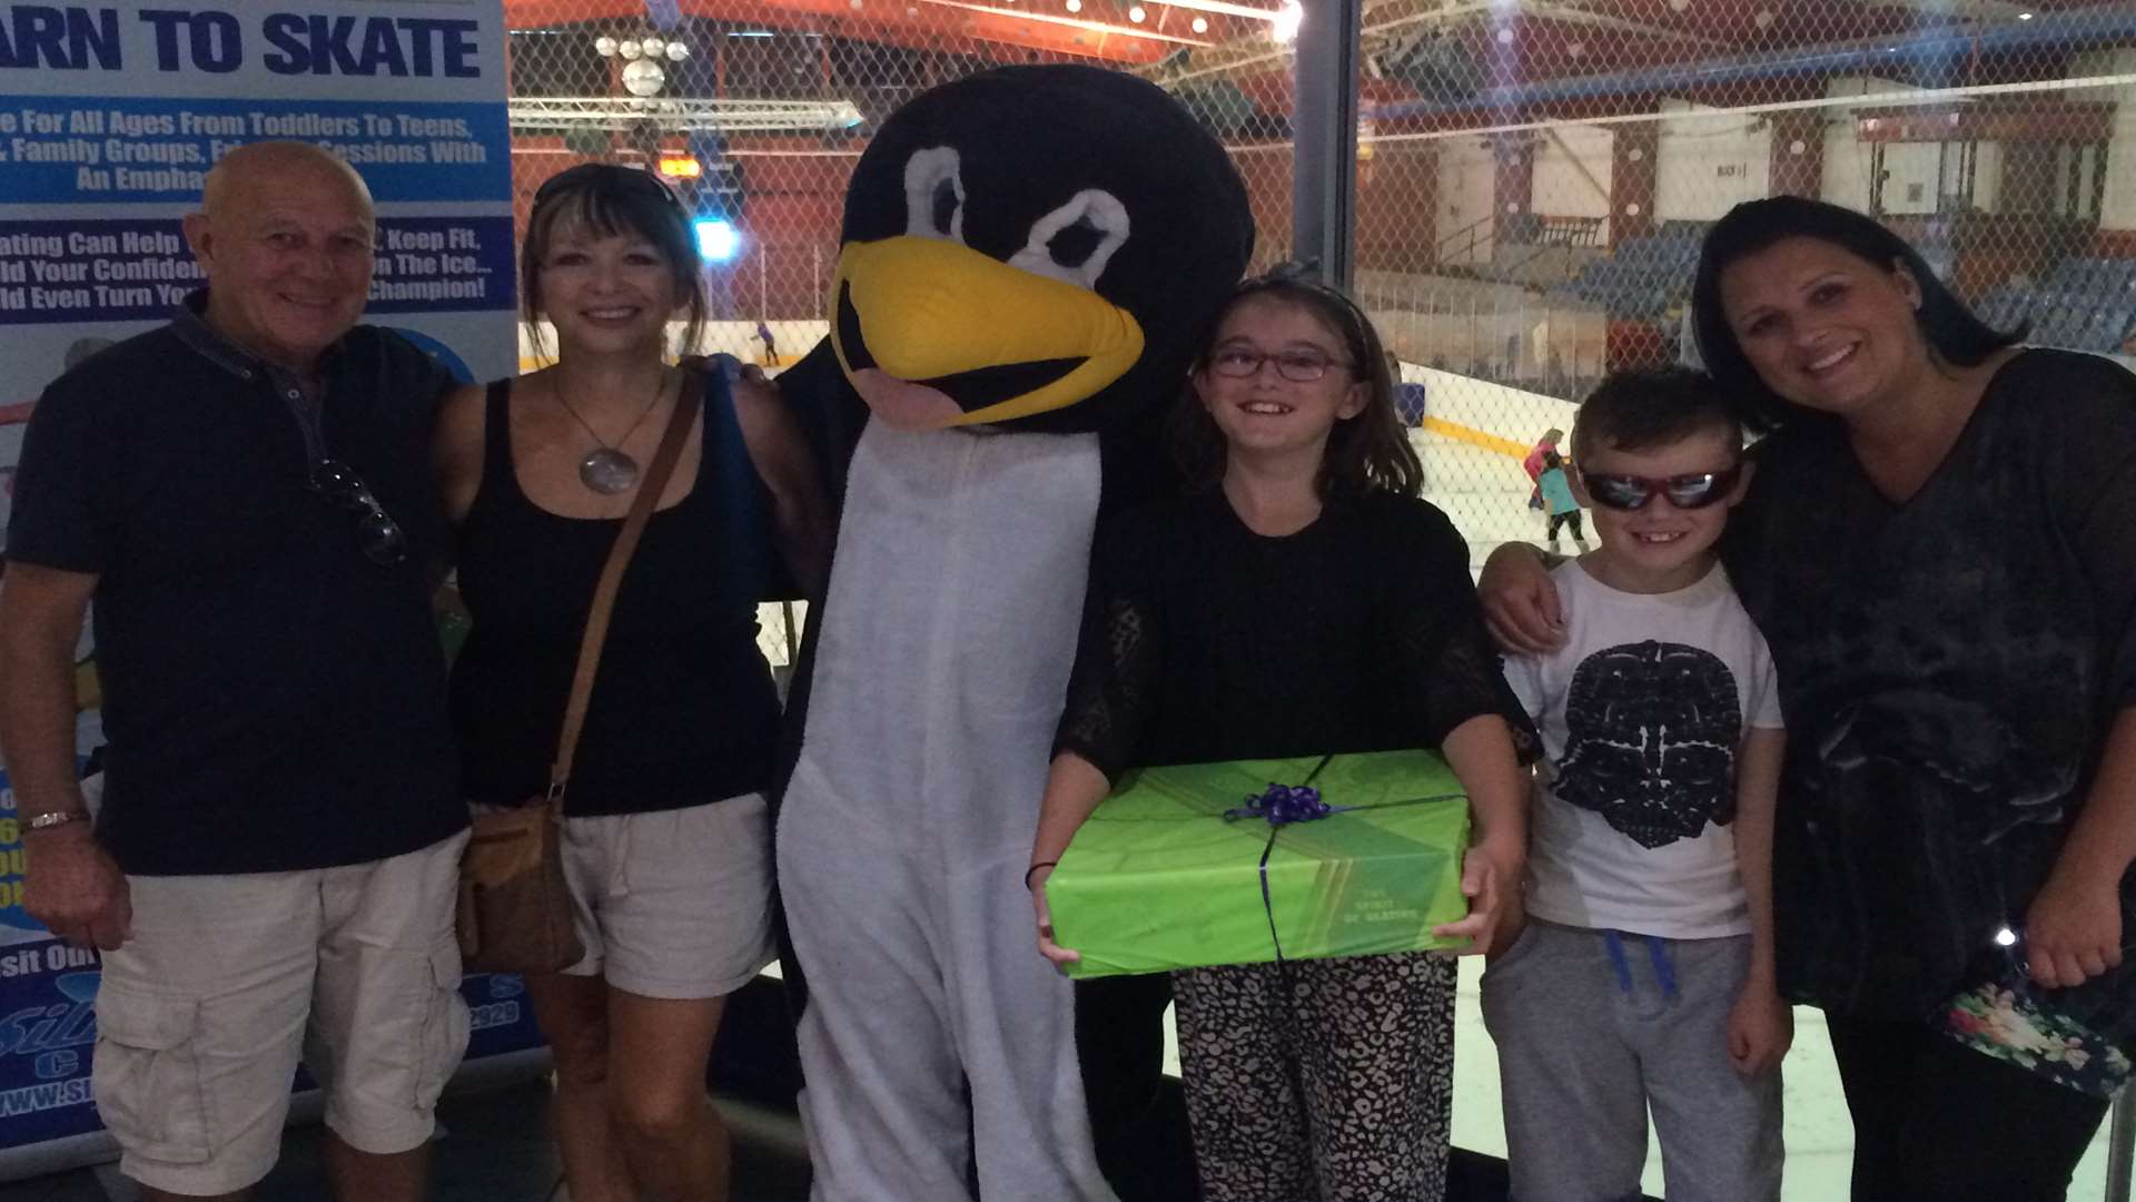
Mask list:
[{"label": "black Darth Vader helmet graphic on the boy's white T-shirt", "polygon": [[1589,654],[1572,672],[1566,734],[1557,798],[1640,847],[1734,821],[1743,704],[1713,652],[1640,642]]}]

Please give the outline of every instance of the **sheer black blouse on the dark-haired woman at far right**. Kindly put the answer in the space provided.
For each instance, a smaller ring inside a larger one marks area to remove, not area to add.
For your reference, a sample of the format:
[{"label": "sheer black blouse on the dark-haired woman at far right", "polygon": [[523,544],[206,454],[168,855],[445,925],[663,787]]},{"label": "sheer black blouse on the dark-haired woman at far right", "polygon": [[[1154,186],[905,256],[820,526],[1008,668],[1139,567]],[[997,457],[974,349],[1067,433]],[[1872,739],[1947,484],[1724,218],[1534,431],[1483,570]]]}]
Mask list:
[{"label": "sheer black blouse on the dark-haired woman at far right", "polygon": [[[1927,1018],[2004,977],[2136,704],[2136,376],[2025,351],[1929,481],[1884,498],[1835,421],[1758,447],[1724,552],[1779,667],[1781,988]],[[2123,939],[2136,941],[2123,879]],[[2046,1003],[2136,1035],[2136,956]]]}]

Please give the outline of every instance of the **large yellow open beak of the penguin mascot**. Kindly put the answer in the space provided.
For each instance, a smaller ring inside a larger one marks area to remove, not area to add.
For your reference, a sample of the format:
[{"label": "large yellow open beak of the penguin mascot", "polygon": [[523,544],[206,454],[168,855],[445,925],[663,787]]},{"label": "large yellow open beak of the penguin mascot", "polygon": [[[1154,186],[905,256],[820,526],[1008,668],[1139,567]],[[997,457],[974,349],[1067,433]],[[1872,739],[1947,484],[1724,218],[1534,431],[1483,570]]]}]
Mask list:
[{"label": "large yellow open beak of the penguin mascot", "polygon": [[878,417],[940,430],[1096,396],[1143,357],[1143,327],[1089,289],[899,235],[839,252],[831,349]]}]

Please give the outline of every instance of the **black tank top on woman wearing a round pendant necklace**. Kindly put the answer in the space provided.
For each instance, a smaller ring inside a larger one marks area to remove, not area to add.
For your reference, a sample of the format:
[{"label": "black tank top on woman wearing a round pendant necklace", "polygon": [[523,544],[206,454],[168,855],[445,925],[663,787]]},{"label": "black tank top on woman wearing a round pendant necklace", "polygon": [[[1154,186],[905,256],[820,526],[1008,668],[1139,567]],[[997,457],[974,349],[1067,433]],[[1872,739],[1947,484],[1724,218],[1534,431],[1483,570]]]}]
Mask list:
[{"label": "black tank top on woman wearing a round pendant necklace", "polygon": [[[461,524],[474,631],[453,665],[461,779],[485,804],[547,789],[594,582],[622,518],[560,518],[519,490],[511,381],[489,385],[483,481]],[[705,372],[703,464],[654,511],[624,573],[564,813],[692,806],[765,787],[778,693],[756,650],[769,492],[724,372]]]}]

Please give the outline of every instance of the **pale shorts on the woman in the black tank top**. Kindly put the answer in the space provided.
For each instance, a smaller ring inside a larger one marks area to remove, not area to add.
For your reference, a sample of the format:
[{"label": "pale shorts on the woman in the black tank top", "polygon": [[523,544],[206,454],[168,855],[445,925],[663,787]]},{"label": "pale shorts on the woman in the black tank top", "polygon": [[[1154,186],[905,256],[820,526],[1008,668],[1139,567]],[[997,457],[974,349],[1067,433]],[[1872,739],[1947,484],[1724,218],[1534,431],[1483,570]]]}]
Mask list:
[{"label": "pale shorts on the woman in the black tank top", "polygon": [[585,958],[566,969],[639,997],[726,997],[771,962],[763,793],[679,811],[564,819],[564,879]]}]

